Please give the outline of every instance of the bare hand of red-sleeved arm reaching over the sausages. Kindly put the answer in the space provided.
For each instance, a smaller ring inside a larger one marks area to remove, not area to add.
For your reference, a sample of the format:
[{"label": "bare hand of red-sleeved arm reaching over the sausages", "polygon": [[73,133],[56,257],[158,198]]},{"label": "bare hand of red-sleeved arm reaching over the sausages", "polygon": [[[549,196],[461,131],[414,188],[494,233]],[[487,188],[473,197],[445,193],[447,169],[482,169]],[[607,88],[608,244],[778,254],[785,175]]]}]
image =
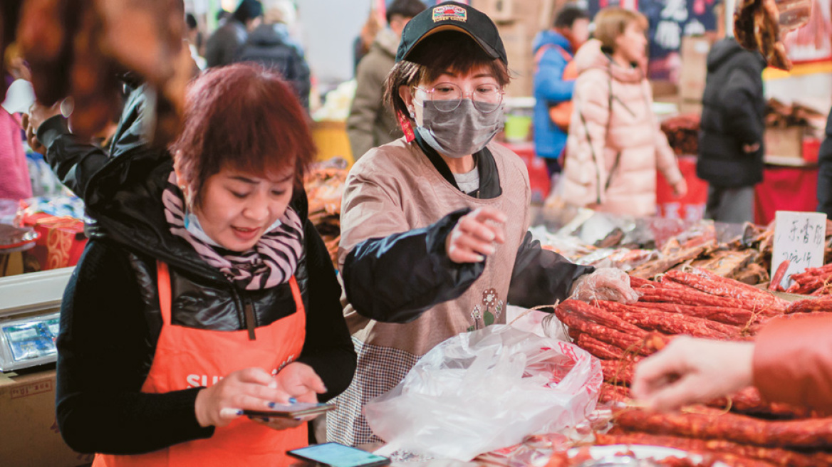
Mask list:
[{"label": "bare hand of red-sleeved arm reaching over the sausages", "polygon": [[729,396],[753,380],[753,342],[676,337],[636,366],[632,395],[654,410]]}]

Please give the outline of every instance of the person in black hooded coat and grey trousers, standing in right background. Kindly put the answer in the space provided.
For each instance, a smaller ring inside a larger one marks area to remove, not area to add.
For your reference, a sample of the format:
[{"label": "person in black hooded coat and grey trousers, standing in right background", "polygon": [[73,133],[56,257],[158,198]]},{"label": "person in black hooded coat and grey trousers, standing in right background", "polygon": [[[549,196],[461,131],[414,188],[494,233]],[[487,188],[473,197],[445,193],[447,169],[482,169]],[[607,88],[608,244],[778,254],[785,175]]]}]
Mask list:
[{"label": "person in black hooded coat and grey trousers, standing in right background", "polygon": [[708,53],[696,175],[708,182],[706,219],[754,220],[754,185],[763,179],[765,99],[760,52],[733,37]]}]

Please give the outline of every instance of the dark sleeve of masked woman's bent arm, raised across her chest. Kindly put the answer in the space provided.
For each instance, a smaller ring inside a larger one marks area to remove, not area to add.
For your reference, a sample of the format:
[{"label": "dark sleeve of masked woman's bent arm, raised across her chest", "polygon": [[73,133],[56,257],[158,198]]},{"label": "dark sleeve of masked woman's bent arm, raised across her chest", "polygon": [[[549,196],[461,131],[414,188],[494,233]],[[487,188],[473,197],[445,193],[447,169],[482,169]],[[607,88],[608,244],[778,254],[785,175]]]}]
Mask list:
[{"label": "dark sleeve of masked woman's bent arm, raised across her chest", "polygon": [[344,261],[344,288],[355,311],[380,322],[410,322],[438,303],[461,296],[485,262],[453,263],[445,253],[461,209],[436,224],[359,243]]}]

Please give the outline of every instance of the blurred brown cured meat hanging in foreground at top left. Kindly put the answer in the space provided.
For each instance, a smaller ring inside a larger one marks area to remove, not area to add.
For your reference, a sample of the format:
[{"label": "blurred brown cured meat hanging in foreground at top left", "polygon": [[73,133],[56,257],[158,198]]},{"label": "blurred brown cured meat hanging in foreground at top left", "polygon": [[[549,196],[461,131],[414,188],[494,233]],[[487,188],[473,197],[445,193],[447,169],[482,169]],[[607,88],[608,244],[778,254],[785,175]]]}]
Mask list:
[{"label": "blurred brown cured meat hanging in foreground at top left", "polygon": [[116,120],[118,76],[133,71],[156,89],[154,142],[178,132],[195,66],[181,53],[181,0],[26,0],[17,42],[32,69],[37,101],[74,100],[72,130],[90,137]]}]

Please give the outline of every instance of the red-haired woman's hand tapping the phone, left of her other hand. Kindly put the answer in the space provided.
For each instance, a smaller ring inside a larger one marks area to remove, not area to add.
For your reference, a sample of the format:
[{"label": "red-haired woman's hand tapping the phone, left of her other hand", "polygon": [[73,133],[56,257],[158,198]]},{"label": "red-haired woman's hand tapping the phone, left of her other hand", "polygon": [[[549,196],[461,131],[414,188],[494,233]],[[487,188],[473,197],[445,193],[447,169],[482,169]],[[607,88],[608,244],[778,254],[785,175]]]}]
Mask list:
[{"label": "red-haired woman's hand tapping the phone, left of her other hand", "polygon": [[245,368],[196,395],[196,420],[203,427],[225,426],[243,409],[269,410],[275,403],[288,404],[290,397],[268,371]]}]

